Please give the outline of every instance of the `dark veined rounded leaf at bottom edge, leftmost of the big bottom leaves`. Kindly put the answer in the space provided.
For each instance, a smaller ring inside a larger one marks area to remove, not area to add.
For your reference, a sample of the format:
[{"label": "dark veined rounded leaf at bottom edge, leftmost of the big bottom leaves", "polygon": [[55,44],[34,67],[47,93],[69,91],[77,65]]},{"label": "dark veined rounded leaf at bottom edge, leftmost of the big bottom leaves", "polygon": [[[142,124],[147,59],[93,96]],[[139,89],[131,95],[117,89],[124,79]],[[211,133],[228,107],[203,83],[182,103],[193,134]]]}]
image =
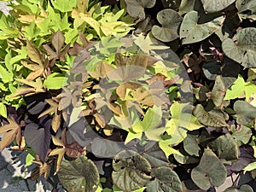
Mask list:
[{"label": "dark veined rounded leaf at bottom edge, leftmost of the big bottom leaves", "polygon": [[63,158],[57,174],[61,184],[70,192],[95,192],[100,183],[96,165],[84,155],[76,160]]}]

